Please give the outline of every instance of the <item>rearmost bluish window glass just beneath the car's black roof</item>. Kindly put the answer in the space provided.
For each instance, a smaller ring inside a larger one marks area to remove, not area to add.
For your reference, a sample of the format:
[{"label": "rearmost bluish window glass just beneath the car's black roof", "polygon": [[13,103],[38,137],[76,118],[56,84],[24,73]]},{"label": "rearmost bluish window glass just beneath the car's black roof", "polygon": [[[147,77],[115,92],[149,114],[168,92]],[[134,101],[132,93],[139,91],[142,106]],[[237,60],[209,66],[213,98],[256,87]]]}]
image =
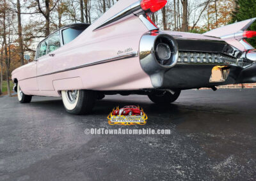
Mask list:
[{"label": "rearmost bluish window glass just beneath the car's black roof", "polygon": [[74,40],[84,31],[85,28],[83,27],[70,27],[62,31],[63,36],[63,44],[67,44],[70,41]]}]

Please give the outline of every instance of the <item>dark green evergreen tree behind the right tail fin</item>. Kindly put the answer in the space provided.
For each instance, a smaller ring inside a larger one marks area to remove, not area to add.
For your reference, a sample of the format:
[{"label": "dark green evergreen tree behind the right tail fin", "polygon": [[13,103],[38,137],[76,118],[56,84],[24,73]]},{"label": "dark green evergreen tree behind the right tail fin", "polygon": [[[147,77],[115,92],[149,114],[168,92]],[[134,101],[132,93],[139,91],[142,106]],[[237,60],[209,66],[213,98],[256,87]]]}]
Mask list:
[{"label": "dark green evergreen tree behind the right tail fin", "polygon": [[[237,9],[232,15],[232,23],[240,22],[256,17],[256,0],[235,0],[237,1]],[[254,22],[248,30],[256,31],[256,23]],[[256,38],[251,38],[248,42],[256,47]]]}]

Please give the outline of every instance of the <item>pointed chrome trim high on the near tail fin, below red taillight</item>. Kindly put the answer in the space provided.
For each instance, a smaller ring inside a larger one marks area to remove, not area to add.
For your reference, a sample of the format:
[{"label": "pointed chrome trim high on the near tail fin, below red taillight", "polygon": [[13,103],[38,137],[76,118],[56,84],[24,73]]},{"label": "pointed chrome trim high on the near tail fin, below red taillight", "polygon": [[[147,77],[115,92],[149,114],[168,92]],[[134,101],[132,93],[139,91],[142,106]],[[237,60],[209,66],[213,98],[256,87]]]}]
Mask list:
[{"label": "pointed chrome trim high on the near tail fin, below red taillight", "polygon": [[124,17],[127,17],[128,15],[131,15],[132,13],[134,13],[135,11],[138,11],[138,10],[141,10],[140,1],[131,4],[131,6],[128,6],[128,8],[125,8],[124,10],[120,11],[120,13],[117,13],[113,17],[109,18],[108,20],[106,20],[103,24],[99,25],[99,27],[97,27],[93,31],[100,29],[106,25],[109,25],[113,22],[116,22]]}]

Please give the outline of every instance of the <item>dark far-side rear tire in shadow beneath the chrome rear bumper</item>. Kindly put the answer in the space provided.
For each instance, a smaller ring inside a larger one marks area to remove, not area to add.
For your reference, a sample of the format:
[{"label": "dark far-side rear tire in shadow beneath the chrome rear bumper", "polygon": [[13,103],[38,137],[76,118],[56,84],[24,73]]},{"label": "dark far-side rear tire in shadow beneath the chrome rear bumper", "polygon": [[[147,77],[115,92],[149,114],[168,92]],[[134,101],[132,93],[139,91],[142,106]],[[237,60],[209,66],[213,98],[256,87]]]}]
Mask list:
[{"label": "dark far-side rear tire in shadow beneath the chrome rear bumper", "polygon": [[173,103],[174,101],[176,101],[180,96],[180,91],[176,91],[174,92],[174,94],[172,94],[171,92],[157,92],[156,94],[150,94],[148,95],[148,98],[157,104],[168,104],[168,103]]}]

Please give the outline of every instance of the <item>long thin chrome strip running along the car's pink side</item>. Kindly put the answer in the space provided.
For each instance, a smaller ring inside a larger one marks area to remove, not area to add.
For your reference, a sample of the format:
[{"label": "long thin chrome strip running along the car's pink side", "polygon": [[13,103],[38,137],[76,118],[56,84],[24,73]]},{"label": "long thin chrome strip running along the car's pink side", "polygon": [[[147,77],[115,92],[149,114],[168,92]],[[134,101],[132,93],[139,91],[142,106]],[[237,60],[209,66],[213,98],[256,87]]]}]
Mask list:
[{"label": "long thin chrome strip running along the car's pink side", "polygon": [[[85,68],[85,67],[95,66],[95,65],[99,65],[99,64],[106,64],[108,62],[120,61],[120,60],[123,60],[123,59],[130,59],[130,58],[133,58],[133,57],[138,57],[138,52],[131,52],[131,53],[124,54],[124,55],[118,55],[118,56],[112,57],[110,59],[104,59],[102,61],[97,61],[97,62],[93,62],[93,63],[89,63],[89,64],[83,64],[81,66],[76,66],[74,68],[63,69],[63,70],[60,70],[60,71],[55,71],[55,72],[52,72],[52,73],[33,76],[33,77],[29,77],[29,78],[36,78],[36,77],[40,77],[40,76],[52,75],[52,74],[61,73],[61,72],[64,72],[64,71],[70,71],[70,70],[74,70],[74,69]],[[29,78],[24,78],[22,80],[28,80]]]}]

